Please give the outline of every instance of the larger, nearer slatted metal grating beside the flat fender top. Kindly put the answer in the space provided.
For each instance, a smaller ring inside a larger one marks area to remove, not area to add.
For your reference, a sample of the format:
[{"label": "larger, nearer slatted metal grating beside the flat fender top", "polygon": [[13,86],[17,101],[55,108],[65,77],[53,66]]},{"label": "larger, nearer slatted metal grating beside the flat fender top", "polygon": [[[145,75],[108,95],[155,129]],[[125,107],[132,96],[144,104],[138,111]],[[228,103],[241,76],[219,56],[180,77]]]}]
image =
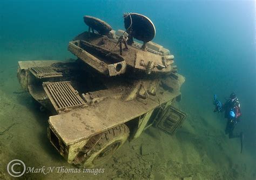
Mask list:
[{"label": "larger, nearer slatted metal grating beside the flat fender top", "polygon": [[67,112],[85,105],[84,100],[72,87],[70,81],[44,82],[43,87],[58,113]]}]

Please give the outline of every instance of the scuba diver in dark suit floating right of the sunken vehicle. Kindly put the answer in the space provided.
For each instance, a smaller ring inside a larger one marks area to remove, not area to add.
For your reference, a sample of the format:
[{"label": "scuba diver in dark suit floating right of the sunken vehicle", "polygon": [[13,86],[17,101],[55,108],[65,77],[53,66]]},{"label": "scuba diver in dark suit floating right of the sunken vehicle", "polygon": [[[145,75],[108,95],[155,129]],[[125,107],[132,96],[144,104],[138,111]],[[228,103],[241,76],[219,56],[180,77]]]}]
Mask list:
[{"label": "scuba diver in dark suit floating right of the sunken vehicle", "polygon": [[225,118],[227,119],[227,124],[225,128],[225,133],[228,134],[228,138],[240,138],[241,139],[241,153],[242,153],[242,141],[244,140],[244,134],[241,132],[239,134],[234,134],[234,127],[240,121],[241,110],[240,103],[235,93],[231,93],[230,98],[228,98],[225,104],[221,104],[214,95],[213,104],[215,105],[215,110],[213,112],[223,112],[225,113]]}]

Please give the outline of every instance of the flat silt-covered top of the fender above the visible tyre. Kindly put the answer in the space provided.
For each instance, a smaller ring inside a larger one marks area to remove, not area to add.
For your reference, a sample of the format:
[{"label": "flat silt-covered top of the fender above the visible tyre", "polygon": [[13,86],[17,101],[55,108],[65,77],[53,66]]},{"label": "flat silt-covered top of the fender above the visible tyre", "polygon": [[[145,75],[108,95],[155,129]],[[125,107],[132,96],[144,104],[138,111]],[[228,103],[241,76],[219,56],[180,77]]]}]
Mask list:
[{"label": "flat silt-covered top of the fender above the visible tyre", "polygon": [[145,102],[106,98],[102,102],[58,114],[49,118],[49,124],[66,145],[84,140],[114,126],[123,124],[177,97],[180,92],[165,91],[158,96],[151,96]]}]

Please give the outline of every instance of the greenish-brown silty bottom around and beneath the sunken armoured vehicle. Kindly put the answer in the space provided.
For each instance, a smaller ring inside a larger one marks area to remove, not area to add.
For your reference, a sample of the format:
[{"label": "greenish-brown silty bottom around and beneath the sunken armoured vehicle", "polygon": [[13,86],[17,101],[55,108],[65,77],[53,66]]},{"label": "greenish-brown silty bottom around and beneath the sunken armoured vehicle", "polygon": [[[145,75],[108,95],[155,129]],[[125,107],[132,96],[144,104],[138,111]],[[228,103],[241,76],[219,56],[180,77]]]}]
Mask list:
[{"label": "greenish-brown silty bottom around and beneath the sunken armoured vehicle", "polygon": [[[23,92],[16,65],[0,69],[0,179],[12,179],[6,165],[14,159],[26,167],[75,168],[50,144],[46,134],[49,114],[40,112]],[[21,179],[255,179],[255,155],[246,148],[240,154],[240,141],[224,134],[220,114],[212,113],[211,105],[202,111],[199,103],[187,104],[179,105],[187,118],[176,135],[150,127],[137,140],[126,142],[101,167],[104,173],[30,172]]]}]

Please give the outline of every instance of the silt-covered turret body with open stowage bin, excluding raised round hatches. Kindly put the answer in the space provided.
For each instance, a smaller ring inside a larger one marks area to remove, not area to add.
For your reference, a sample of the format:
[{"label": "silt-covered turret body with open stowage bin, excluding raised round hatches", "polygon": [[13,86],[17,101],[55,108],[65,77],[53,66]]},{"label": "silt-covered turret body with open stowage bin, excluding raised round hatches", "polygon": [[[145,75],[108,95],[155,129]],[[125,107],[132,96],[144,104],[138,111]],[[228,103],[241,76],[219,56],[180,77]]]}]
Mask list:
[{"label": "silt-covered turret body with open stowage bin, excluding raised round hatches", "polygon": [[[172,71],[173,59],[161,54],[129,46],[129,51],[123,51],[122,55],[116,46],[116,41],[106,37],[93,36],[92,39],[76,40],[69,42],[69,51],[79,57],[102,74],[116,76],[126,73],[129,67],[135,70],[143,70],[147,74],[169,73]],[[173,57],[174,58],[174,57]]]}]

